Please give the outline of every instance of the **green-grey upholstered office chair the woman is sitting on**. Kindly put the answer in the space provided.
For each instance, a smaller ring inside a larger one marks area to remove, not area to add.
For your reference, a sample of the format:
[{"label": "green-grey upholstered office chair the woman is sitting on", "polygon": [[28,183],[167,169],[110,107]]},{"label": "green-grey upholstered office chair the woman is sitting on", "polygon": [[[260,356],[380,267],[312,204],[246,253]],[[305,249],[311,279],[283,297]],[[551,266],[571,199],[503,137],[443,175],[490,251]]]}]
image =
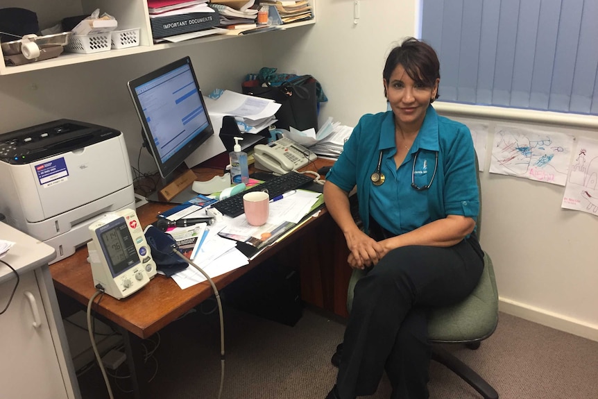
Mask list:
[{"label": "green-grey upholstered office chair the woman is sitting on", "polygon": [[[479,171],[477,156],[475,167]],[[480,217],[477,221],[477,234],[479,236],[481,223],[481,189],[479,173],[477,187],[480,198]],[[349,280],[347,295],[347,309],[351,312],[353,302],[353,289],[359,278],[365,272],[354,269]],[[477,287],[461,303],[452,306],[438,307],[432,311],[428,321],[428,336],[432,345],[432,359],[444,364],[454,371],[465,382],[478,391],[484,399],[498,399],[498,393],[482,377],[473,371],[460,359],[452,355],[442,343],[464,343],[470,349],[477,349],[481,341],[490,337],[498,323],[498,291],[494,276],[492,260],[484,253],[484,271],[481,274]],[[341,362],[342,343],[336,347],[331,362],[339,366]]]}]

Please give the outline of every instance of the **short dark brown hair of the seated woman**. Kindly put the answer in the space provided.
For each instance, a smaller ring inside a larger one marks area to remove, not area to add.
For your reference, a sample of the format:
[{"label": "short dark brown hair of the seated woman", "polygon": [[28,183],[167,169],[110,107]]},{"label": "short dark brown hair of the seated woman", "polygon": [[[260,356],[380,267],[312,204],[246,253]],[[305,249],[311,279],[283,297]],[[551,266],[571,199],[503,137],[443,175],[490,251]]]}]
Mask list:
[{"label": "short dark brown hair of the seated woman", "polygon": [[[386,83],[391,80],[391,74],[398,65],[402,65],[409,78],[428,87],[434,87],[436,79],[441,77],[441,64],[436,51],[432,46],[415,37],[407,37],[388,54],[382,71]],[[384,96],[386,96],[386,88]],[[438,99],[438,91],[435,99]]]}]

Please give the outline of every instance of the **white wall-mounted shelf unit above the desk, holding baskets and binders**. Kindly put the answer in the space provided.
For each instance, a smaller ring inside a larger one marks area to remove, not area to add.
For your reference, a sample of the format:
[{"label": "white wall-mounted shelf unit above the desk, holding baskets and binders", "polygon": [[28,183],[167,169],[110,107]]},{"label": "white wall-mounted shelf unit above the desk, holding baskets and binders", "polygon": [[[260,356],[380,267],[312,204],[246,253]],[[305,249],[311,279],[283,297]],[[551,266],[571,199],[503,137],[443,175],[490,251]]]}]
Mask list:
[{"label": "white wall-mounted shelf unit above the desk, holding baskets and binders", "polygon": [[[310,3],[312,12],[314,15],[316,15],[316,1],[311,0]],[[40,23],[40,28],[48,28],[49,26],[58,24],[63,17],[89,15],[96,10],[96,8],[99,8],[100,12],[108,12],[110,15],[113,15],[117,18],[119,22],[119,29],[140,28],[140,45],[129,47],[127,49],[112,49],[110,51],[102,51],[92,54],[62,53],[57,58],[32,62],[31,64],[19,65],[17,67],[7,67],[4,65],[4,62],[0,62],[0,75],[18,74],[26,71],[60,67],[61,65],[71,65],[79,62],[89,62],[94,60],[102,60],[105,58],[129,56],[131,54],[167,49],[173,46],[237,38],[237,36],[230,35],[212,35],[194,40],[187,40],[180,43],[153,44],[146,0],[3,0],[0,8],[8,7],[26,8],[36,12]],[[280,28],[288,29],[314,23],[315,18],[309,21],[281,25]],[[268,34],[275,34],[275,32]]]}]

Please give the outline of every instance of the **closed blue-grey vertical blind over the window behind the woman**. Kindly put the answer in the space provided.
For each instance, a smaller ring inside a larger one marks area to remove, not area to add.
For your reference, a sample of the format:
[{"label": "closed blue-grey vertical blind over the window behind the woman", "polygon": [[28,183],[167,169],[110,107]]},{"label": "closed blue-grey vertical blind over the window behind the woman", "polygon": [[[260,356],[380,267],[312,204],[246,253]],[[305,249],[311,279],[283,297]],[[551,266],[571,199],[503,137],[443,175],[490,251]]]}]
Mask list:
[{"label": "closed blue-grey vertical blind over the window behind the woman", "polygon": [[598,115],[598,0],[421,0],[441,101]]}]

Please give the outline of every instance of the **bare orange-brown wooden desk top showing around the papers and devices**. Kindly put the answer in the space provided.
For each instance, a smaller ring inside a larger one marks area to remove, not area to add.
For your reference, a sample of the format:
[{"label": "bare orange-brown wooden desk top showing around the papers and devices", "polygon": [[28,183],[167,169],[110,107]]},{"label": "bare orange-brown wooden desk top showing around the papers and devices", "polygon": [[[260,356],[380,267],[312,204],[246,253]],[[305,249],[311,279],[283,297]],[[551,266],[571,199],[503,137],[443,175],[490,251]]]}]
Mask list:
[{"label": "bare orange-brown wooden desk top showing around the papers and devices", "polygon": [[[321,167],[330,161],[318,162]],[[314,169],[312,166],[311,170]],[[196,170],[200,180],[207,180],[210,173],[214,176],[220,171],[216,169]],[[147,226],[156,220],[161,212],[172,207],[169,204],[148,203],[137,209],[137,216],[142,226]],[[323,214],[327,212],[323,210]],[[241,275],[253,269],[264,260],[275,255],[283,248],[305,235],[306,232],[313,232],[319,223],[326,219],[320,217],[311,218],[307,223],[298,228],[293,234],[280,241],[259,254],[247,266],[220,275],[214,278],[214,283],[219,289],[230,284]],[[330,219],[330,218],[327,218]],[[87,305],[89,298],[95,293],[92,278],[92,268],[87,262],[87,247],[79,248],[74,255],[65,260],[50,265],[50,272],[54,280],[55,288]],[[148,285],[128,298],[117,300],[109,295],[101,298],[100,305],[94,305],[93,309],[105,316],[110,321],[121,325],[140,338],[150,337],[164,326],[182,316],[189,309],[195,307],[203,300],[212,296],[212,288],[208,282],[201,282],[187,289],[180,289],[172,278],[164,275],[156,275]],[[97,303],[97,299],[95,303]]]}]

